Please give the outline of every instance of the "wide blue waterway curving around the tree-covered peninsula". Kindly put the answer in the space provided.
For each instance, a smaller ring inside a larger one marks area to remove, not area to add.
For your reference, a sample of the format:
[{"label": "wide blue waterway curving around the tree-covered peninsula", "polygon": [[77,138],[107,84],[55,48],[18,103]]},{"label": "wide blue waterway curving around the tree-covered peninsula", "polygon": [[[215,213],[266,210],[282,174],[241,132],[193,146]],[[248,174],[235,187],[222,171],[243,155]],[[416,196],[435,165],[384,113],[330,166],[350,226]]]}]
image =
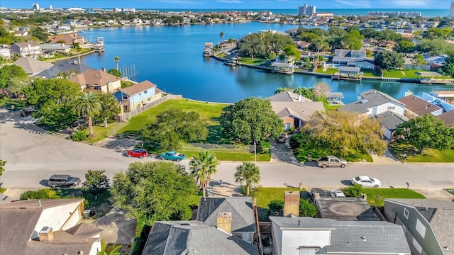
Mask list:
[{"label": "wide blue waterway curving around the tree-covered peninsula", "polygon": [[[249,96],[272,96],[277,87],[311,87],[319,81],[340,91],[344,103],[355,101],[358,93],[377,89],[401,98],[407,90],[421,96],[422,92],[445,88],[443,85],[423,85],[382,81],[336,81],[307,74],[271,74],[248,67],[228,67],[222,62],[201,55],[205,42],[217,44],[224,33],[224,40],[238,39],[259,30],[284,32],[295,25],[270,23],[228,23],[192,26],[143,26],[99,28],[84,30],[80,35],[87,40],[104,37],[106,51],[82,58],[84,64],[95,69],[125,67],[135,70],[137,81],[148,80],[167,93],[182,94],[184,98],[200,101],[234,103]],[[323,27],[322,27],[323,28]],[[450,86],[454,89],[454,86]]]}]

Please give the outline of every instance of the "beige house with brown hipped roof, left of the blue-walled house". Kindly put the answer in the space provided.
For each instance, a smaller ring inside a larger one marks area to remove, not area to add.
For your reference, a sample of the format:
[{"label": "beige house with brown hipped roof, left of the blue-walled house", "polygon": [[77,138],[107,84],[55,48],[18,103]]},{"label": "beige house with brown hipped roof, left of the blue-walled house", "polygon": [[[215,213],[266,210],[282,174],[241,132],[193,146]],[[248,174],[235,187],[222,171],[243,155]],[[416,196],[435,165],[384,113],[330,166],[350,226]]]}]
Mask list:
[{"label": "beige house with brown hipped roof, left of the blue-walled house", "polygon": [[76,74],[70,78],[77,84],[80,84],[80,88],[94,89],[96,91],[114,93],[121,89],[121,79],[115,75],[106,73],[106,69],[95,70],[89,69],[81,74]]}]

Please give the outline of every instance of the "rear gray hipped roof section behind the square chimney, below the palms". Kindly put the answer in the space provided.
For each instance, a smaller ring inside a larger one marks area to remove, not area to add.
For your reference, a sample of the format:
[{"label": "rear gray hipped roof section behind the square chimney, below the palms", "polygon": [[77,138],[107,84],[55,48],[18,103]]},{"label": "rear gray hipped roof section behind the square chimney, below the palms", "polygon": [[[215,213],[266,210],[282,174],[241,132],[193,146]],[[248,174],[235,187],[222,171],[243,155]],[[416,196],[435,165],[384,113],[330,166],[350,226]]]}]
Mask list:
[{"label": "rear gray hipped roof section behind the square chimney, below the palms", "polygon": [[255,232],[252,198],[200,198],[196,220],[216,226],[218,212],[232,212],[232,232]]}]

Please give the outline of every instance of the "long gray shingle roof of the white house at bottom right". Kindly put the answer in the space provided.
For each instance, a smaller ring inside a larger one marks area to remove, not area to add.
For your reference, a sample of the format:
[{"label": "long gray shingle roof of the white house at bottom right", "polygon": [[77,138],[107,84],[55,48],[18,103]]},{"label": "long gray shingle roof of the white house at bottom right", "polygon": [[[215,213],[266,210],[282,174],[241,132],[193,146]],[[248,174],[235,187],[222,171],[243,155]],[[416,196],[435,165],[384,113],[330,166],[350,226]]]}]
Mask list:
[{"label": "long gray shingle roof of the white house at bottom right", "polygon": [[390,222],[337,221],[312,217],[270,217],[270,220],[283,230],[331,230],[330,244],[321,247],[317,254],[410,254],[402,227]]}]

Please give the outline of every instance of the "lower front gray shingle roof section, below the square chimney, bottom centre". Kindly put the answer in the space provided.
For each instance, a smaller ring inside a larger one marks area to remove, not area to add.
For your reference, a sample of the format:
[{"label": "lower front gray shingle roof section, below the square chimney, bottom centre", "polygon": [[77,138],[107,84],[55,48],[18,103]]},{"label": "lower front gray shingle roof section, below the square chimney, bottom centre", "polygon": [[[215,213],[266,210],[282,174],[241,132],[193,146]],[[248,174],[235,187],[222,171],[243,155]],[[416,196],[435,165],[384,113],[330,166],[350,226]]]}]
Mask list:
[{"label": "lower front gray shingle roof section, below the square chimney, bottom centre", "polygon": [[198,221],[155,222],[143,255],[258,254],[258,247]]}]

